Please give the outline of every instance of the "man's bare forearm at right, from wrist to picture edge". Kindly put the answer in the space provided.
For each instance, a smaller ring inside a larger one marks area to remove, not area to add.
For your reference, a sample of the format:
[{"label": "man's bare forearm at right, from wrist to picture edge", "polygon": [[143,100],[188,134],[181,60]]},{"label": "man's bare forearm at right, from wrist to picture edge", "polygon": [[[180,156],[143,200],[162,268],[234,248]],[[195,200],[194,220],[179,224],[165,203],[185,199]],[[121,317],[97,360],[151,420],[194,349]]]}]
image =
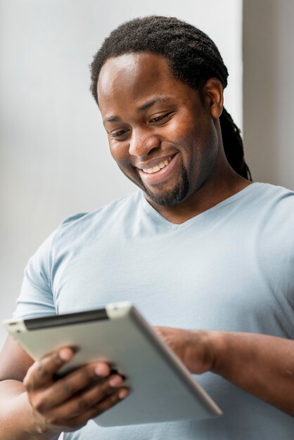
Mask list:
[{"label": "man's bare forearm at right, from wrist to picture edge", "polygon": [[208,333],[214,373],[294,416],[294,341],[253,333]]}]

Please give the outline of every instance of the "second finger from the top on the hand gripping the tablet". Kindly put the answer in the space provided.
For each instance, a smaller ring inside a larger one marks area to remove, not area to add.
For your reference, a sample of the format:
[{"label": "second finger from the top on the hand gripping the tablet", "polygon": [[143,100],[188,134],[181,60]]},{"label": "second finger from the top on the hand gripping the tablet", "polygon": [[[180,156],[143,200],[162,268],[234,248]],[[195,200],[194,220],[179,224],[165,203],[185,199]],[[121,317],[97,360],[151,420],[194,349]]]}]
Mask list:
[{"label": "second finger from the top on the hand gripping the tablet", "polygon": [[39,393],[38,396],[34,396],[32,405],[39,412],[44,412],[67,401],[78,392],[81,392],[82,389],[88,387],[89,384],[109,374],[110,367],[107,363],[86,365],[57,380],[44,392]]}]

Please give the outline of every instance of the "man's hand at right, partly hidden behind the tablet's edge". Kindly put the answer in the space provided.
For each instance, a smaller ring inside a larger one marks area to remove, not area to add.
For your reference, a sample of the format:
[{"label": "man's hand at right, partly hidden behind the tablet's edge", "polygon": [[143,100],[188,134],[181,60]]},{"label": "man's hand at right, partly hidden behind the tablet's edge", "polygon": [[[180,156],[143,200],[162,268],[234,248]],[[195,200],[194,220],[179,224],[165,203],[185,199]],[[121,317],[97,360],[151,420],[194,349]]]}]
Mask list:
[{"label": "man's hand at right, partly hidden behind the tablet's edge", "polygon": [[210,332],[170,327],[154,327],[153,329],[191,373],[201,374],[213,369],[215,358],[210,343]]}]

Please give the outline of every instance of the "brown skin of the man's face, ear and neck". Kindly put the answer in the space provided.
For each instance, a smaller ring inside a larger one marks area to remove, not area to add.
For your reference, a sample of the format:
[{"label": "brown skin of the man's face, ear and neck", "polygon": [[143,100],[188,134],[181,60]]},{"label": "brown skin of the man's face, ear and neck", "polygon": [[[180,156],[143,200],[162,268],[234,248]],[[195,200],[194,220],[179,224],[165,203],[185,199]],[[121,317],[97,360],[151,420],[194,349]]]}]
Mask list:
[{"label": "brown skin of the man's face, ear and neck", "polygon": [[[197,91],[174,79],[164,58],[130,54],[106,62],[97,91],[110,153],[122,172],[147,190],[146,199],[165,219],[183,223],[250,184],[224,155],[218,79],[207,81],[202,102]],[[167,167],[155,174],[140,169],[171,156],[168,173]],[[160,200],[168,199],[181,183],[181,167],[188,193],[164,206]]]}]

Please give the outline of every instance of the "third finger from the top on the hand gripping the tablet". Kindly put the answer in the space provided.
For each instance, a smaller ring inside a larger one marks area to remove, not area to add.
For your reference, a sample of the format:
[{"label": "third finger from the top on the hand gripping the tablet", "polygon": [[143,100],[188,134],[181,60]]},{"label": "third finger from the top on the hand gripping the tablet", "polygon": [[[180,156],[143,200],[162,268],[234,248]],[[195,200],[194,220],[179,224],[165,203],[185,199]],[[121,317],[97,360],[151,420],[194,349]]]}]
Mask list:
[{"label": "third finger from the top on the hand gripping the tablet", "polygon": [[119,375],[110,376],[46,413],[46,419],[53,424],[64,422],[66,424],[66,420],[82,415],[89,408],[103,401],[108,394],[115,392],[116,388],[122,385],[122,382],[122,377]]}]

